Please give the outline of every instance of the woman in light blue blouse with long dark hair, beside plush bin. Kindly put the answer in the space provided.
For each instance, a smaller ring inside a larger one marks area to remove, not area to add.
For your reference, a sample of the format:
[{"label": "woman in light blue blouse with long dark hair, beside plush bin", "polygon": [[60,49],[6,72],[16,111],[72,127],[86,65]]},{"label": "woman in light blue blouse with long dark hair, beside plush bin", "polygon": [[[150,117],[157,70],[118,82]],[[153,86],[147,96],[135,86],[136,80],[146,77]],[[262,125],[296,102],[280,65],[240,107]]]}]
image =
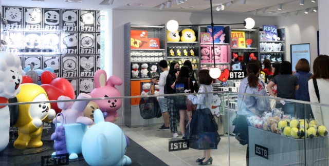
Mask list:
[{"label": "woman in light blue blouse with long dark hair, beside plush bin", "polygon": [[[249,61],[247,64],[248,76],[241,81],[239,93],[267,96],[265,84],[258,78],[260,72],[261,67],[258,61]],[[247,117],[261,117],[263,112],[268,111],[269,108],[270,102],[267,98],[237,95],[237,117],[233,120],[235,126],[233,133],[240,144],[245,145],[249,142]],[[246,162],[249,165],[249,146],[247,146]]]}]

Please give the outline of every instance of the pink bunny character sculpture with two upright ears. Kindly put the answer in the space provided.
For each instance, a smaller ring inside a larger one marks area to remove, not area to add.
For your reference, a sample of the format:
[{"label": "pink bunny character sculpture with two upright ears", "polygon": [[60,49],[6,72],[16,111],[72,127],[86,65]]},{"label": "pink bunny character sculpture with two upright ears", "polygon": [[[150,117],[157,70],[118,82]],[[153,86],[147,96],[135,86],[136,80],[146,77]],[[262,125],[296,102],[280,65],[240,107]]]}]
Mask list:
[{"label": "pink bunny character sculpture with two upright ears", "polygon": [[[122,80],[112,75],[106,81],[106,72],[104,70],[97,70],[94,76],[95,81],[95,89],[90,92],[90,96],[93,98],[101,98],[101,97],[120,97],[121,94],[115,86],[122,85]],[[117,110],[122,105],[122,99],[109,99],[109,100],[94,100],[99,106],[99,109],[103,113],[107,113],[105,121],[114,122],[119,119],[119,114]]]}]

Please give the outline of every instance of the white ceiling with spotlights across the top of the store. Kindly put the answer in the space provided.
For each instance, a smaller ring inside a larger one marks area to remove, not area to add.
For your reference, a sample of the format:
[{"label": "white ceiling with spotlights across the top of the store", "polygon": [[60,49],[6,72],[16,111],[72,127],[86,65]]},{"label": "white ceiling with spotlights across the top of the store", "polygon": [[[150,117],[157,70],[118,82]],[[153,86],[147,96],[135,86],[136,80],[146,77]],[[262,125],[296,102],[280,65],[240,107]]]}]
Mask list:
[{"label": "white ceiling with spotlights across the top of the store", "polygon": [[[22,6],[22,7],[41,7],[41,8],[59,8],[59,9],[84,9],[84,10],[106,10],[106,9],[132,9],[161,11],[160,5],[167,4],[168,0],[114,0],[113,5],[99,5],[103,0],[84,0],[83,3],[67,3],[64,0],[44,0],[44,2],[31,0],[2,0],[2,6]],[[110,0],[111,1],[111,0]],[[171,0],[171,8],[165,7],[163,11],[179,11],[179,12],[210,12],[209,0],[187,0],[180,5],[176,4],[176,0]],[[242,0],[232,0],[233,5],[225,6],[224,11],[216,11],[216,6],[226,4],[230,0],[212,0],[213,12],[223,14],[244,14],[254,15],[254,11],[258,10],[257,15],[262,16],[279,16],[287,12],[305,11],[305,9],[317,7],[318,3],[312,3],[311,0],[305,0],[305,4],[300,5],[300,0],[246,0],[246,4],[241,3]],[[327,0],[326,0],[327,1]],[[142,4],[142,6],[128,6],[127,4]],[[283,4],[282,10],[278,10],[278,5]],[[193,9],[181,9],[181,7],[194,7]],[[267,8],[263,13],[262,9]],[[274,11],[275,13],[268,13]],[[302,12],[304,14],[304,12]]]}]

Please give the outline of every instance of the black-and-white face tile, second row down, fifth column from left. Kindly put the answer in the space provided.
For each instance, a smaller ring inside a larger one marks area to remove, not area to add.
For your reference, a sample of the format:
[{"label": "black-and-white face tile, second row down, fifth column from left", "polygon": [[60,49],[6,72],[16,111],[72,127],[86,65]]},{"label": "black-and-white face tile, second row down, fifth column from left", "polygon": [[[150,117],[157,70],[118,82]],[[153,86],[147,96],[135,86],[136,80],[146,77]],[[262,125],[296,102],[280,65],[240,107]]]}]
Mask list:
[{"label": "black-and-white face tile, second row down, fifth column from left", "polygon": [[95,54],[95,33],[79,33],[80,54]]}]

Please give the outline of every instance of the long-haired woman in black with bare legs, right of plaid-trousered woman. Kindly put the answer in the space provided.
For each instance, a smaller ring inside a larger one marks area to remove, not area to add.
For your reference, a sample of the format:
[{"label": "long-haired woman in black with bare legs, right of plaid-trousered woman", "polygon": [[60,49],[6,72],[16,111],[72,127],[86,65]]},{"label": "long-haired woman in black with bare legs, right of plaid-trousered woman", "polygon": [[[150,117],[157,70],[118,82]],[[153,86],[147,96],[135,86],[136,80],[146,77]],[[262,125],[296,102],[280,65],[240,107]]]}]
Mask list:
[{"label": "long-haired woman in black with bare legs, right of plaid-trousered woman", "polygon": [[[190,78],[190,69],[188,66],[182,66],[179,70],[179,74],[177,75],[176,82],[175,82],[175,88],[176,93],[192,93],[194,92],[194,87],[192,83],[192,79]],[[190,85],[190,87],[189,87]],[[178,96],[178,97],[185,97],[185,96]],[[185,99],[186,101],[186,99]],[[176,101],[175,101],[176,102]],[[187,104],[186,102],[184,106],[180,106],[179,108],[179,128],[182,134],[182,139],[185,139],[185,118],[186,114],[188,114],[189,122],[192,118],[192,112],[187,112]],[[175,105],[177,106],[177,104]],[[182,109],[181,109],[182,108]],[[177,129],[176,129],[177,130]]]}]

